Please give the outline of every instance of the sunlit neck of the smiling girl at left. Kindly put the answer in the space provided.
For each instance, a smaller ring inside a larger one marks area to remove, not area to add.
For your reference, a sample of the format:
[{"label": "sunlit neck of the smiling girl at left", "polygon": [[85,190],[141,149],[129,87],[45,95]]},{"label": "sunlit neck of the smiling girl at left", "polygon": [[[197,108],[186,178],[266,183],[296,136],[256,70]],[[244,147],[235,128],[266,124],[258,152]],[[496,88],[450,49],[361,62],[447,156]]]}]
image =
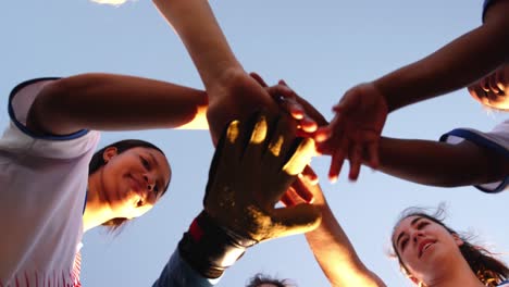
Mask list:
[{"label": "sunlit neck of the smiling girl at left", "polygon": [[87,202],[83,214],[83,229],[87,232],[107,221],[114,219],[110,207],[105,204],[102,190],[102,170],[88,176]]}]

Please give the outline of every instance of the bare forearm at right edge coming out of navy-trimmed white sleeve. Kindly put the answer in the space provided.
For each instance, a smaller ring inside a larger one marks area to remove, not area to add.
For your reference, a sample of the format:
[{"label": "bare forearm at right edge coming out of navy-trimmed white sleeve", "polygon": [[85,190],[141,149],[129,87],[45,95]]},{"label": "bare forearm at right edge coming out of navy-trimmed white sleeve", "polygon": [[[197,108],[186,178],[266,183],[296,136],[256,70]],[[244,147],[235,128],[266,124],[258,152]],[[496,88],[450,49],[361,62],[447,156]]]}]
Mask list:
[{"label": "bare forearm at right edge coming out of navy-trimmed white sleeve", "polygon": [[469,141],[382,138],[380,171],[423,185],[456,187],[493,183],[507,175],[508,163]]}]

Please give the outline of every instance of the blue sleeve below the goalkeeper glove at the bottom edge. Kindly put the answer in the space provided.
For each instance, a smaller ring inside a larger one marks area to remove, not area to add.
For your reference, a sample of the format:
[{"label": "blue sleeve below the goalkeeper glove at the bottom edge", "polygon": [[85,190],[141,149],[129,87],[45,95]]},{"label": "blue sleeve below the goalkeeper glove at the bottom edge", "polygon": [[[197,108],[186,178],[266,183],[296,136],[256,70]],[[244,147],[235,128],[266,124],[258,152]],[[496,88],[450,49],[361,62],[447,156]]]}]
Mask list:
[{"label": "blue sleeve below the goalkeeper glove at the bottom edge", "polygon": [[212,287],[219,278],[204,278],[194,271],[175,250],[152,287]]}]

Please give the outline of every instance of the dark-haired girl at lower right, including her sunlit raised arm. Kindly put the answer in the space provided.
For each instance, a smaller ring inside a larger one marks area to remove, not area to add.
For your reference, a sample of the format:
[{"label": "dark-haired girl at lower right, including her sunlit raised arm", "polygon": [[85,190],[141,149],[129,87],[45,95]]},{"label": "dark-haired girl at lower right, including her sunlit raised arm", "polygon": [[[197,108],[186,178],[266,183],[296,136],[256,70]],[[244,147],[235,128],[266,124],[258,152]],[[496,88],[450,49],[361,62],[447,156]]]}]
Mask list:
[{"label": "dark-haired girl at lower right, including her sunlit raised arm", "polygon": [[[334,217],[319,185],[308,185],[322,212],[321,225],[306,239],[332,286],[386,286],[358,257]],[[509,269],[493,253],[444,224],[439,209],[406,210],[392,244],[401,271],[417,286],[509,286]]]}]

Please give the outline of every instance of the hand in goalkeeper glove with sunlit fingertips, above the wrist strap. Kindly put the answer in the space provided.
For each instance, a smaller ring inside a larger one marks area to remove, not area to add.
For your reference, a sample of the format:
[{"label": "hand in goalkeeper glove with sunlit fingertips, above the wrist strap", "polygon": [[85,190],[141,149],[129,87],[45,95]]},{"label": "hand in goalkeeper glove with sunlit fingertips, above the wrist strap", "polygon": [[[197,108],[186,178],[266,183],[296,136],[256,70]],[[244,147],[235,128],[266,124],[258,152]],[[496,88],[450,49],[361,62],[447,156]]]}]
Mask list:
[{"label": "hand in goalkeeper glove with sunlit fingertips, above the wrist strap", "polygon": [[321,219],[313,205],[275,208],[313,154],[313,140],[296,138],[286,116],[232,122],[210,169],[204,211],[218,225],[254,241],[313,229]]}]

